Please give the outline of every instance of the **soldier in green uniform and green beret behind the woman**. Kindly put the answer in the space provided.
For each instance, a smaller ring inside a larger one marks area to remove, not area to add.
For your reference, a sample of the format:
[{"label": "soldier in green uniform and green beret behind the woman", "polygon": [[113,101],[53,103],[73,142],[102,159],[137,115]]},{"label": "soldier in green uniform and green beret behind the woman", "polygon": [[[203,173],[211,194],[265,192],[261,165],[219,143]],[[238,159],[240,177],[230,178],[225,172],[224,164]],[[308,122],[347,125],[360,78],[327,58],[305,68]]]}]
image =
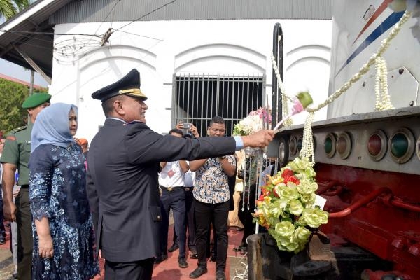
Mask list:
[{"label": "soldier in green uniform and green beret behind the woman", "polygon": [[[31,279],[32,266],[32,217],[29,206],[29,156],[31,155],[31,132],[36,116],[50,105],[51,95],[36,93],[29,96],[22,104],[27,109],[29,123],[12,130],[6,137],[0,162],[3,163],[3,212],[4,218],[18,225],[18,278]],[[20,191],[13,203],[15,172],[18,169]]]}]

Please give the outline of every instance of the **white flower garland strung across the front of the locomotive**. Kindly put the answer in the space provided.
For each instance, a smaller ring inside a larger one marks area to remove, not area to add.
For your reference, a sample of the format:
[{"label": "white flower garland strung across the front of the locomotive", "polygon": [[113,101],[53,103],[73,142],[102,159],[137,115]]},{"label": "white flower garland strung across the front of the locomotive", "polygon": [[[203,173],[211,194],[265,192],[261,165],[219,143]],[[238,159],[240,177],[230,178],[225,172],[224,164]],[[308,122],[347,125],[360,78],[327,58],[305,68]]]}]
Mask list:
[{"label": "white flower garland strung across the front of the locomotive", "polygon": [[[388,36],[386,38],[384,38],[384,40],[381,41],[381,45],[379,45],[379,48],[378,48],[377,52],[374,53],[370,57],[370,59],[367,61],[367,63],[365,63],[360,68],[358,73],[354,74],[350,78],[350,80],[348,80],[346,83],[344,83],[344,85],[342,85],[342,87],[340,87],[333,94],[331,94],[327,99],[325,99],[324,102],[318,104],[318,106],[316,106],[315,108],[307,107],[305,109],[305,111],[309,112],[309,116],[307,117],[307,120],[304,123],[304,137],[302,139],[302,150],[300,151],[300,157],[302,157],[302,156],[307,156],[308,158],[311,157],[311,165],[315,164],[314,146],[313,146],[313,142],[312,142],[313,138],[312,138],[312,129],[311,129],[312,121],[314,120],[314,113],[316,111],[319,111],[323,107],[327,106],[328,104],[333,102],[335,99],[337,99],[341,94],[346,92],[351,87],[351,85],[353,85],[358,80],[360,80],[360,78],[365,73],[367,73],[367,71],[369,71],[370,66],[372,66],[375,63],[377,64],[377,68],[380,69],[380,70],[378,70],[378,73],[377,73],[377,83],[378,83],[378,77],[379,77],[379,85],[377,87],[375,86],[375,94],[377,94],[377,102],[375,104],[375,109],[378,108],[378,109],[381,109],[381,110],[386,110],[386,109],[393,108],[393,105],[391,104],[391,100],[390,100],[389,94],[388,94],[388,83],[387,83],[387,77],[386,77],[386,62],[384,61],[382,55],[384,54],[384,52],[388,48],[389,44],[391,43],[391,40],[393,38],[395,38],[395,36],[400,31],[402,25],[404,25],[405,22],[407,22],[407,20],[409,20],[411,15],[412,15],[412,11],[405,10],[404,15],[402,15],[400,20],[395,24],[395,26],[393,27],[391,32],[388,34]],[[279,86],[279,89],[281,90],[283,101],[286,101],[286,102],[282,102],[282,105],[283,105],[283,116],[282,117],[285,118],[286,116],[288,116],[288,106],[287,105],[285,106],[285,104],[287,104],[287,99],[290,100],[290,101],[292,99],[290,97],[288,97],[288,95],[286,94],[286,90],[284,89],[284,86],[283,86],[283,81],[280,78],[279,68],[277,67],[276,59],[274,58],[273,54],[271,55],[271,59],[272,59],[272,64],[273,64],[273,70],[274,70],[274,73],[276,73],[276,77],[277,77],[277,85]],[[380,90],[379,90],[379,88],[380,88]],[[380,95],[379,91],[382,92],[382,96],[383,96],[382,102],[380,102],[380,97],[378,97],[378,95]],[[290,119],[286,120],[283,123],[283,125],[284,126],[290,126],[291,125],[290,122],[291,122]],[[306,134],[305,134],[305,131],[307,132]],[[311,149],[311,151],[309,151],[309,149]]]}]

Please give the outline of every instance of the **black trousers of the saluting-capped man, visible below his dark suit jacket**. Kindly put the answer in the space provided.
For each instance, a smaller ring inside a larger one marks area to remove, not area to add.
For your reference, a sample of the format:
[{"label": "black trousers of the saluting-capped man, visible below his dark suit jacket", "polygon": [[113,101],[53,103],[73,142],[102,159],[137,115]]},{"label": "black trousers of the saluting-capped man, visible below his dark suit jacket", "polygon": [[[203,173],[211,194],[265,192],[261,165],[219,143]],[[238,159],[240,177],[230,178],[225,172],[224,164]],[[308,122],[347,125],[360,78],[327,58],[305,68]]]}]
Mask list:
[{"label": "black trousers of the saluting-capped man, visible below his dark suit jacket", "polygon": [[151,280],[153,260],[137,262],[109,262],[105,260],[105,280]]}]

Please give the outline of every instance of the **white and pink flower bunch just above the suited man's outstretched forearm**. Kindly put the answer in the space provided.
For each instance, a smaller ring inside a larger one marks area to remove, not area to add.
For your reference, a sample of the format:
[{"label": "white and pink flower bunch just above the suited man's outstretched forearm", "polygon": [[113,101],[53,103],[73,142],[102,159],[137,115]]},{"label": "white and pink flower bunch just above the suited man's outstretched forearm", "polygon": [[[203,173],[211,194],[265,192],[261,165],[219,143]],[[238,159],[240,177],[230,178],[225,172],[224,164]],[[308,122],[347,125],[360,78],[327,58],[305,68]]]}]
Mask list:
[{"label": "white and pink flower bunch just above the suited man's outstretched forearm", "polygon": [[266,107],[251,111],[246,118],[239,120],[233,129],[233,135],[249,135],[262,130],[271,123],[271,115]]}]

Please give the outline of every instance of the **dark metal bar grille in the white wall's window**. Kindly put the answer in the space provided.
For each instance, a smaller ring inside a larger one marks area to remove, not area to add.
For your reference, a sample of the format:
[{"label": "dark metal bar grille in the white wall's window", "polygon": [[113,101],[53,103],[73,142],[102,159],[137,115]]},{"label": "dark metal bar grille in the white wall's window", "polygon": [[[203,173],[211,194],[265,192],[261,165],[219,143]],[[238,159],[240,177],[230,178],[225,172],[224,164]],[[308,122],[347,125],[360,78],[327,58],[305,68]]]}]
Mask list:
[{"label": "dark metal bar grille in the white wall's window", "polygon": [[207,135],[211,118],[225,119],[226,134],[250,111],[265,105],[265,75],[174,74],[172,127],[179,121],[194,123]]}]

